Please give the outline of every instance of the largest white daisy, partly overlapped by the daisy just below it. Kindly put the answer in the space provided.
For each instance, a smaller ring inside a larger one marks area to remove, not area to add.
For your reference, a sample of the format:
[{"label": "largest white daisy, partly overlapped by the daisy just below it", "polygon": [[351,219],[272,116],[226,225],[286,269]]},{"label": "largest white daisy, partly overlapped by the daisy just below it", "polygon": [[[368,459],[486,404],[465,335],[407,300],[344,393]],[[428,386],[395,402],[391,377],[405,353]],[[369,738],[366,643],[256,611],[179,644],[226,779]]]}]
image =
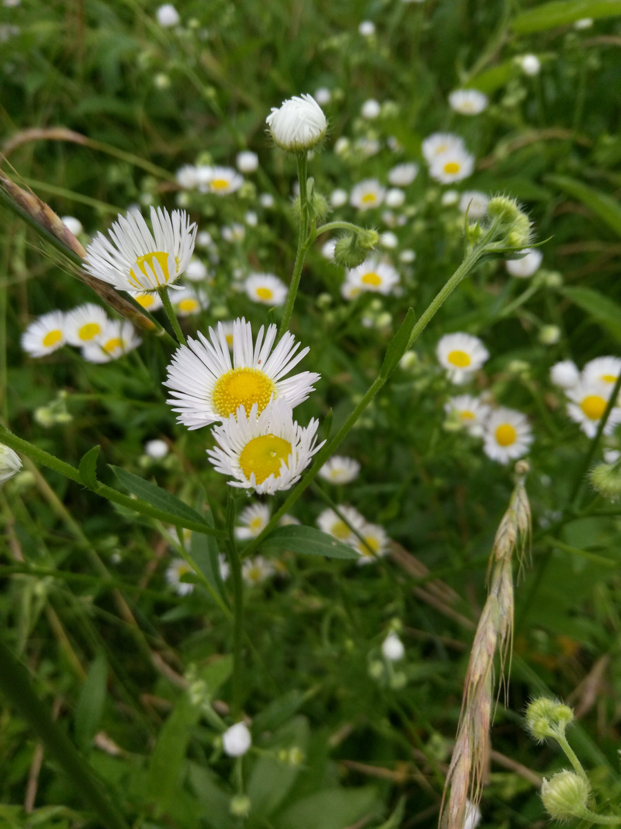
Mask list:
[{"label": "largest white daisy, partly overlapped by the daisy just below it", "polygon": [[262,326],[253,345],[250,323],[243,318],[234,320],[233,361],[222,322],[218,323],[217,333],[209,328],[211,342],[200,332],[198,340],[188,337],[188,345],[180,346],[173,354],[164,384],[172,389],[167,402],[179,414],[179,423],[188,429],[199,429],[228,419],[239,406],[248,413],[253,405],[258,405],[260,414],[272,398],[286,400],[292,409],[306,400],[320,375],[302,371],[286,380],[282,378],[306,356],[309,348],[296,354],[300,343],[286,332],[272,351],[277,326],[267,327],[265,340],[264,332]]}]

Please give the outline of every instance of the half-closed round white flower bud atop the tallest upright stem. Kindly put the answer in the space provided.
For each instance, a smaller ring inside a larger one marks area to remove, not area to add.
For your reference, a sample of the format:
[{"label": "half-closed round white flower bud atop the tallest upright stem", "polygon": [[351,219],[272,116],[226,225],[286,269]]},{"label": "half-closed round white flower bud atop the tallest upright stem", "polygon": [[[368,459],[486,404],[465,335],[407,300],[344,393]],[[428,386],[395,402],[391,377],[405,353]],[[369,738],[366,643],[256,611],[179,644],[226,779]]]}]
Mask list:
[{"label": "half-closed round white flower bud atop the tallest upright stem", "polygon": [[312,95],[297,96],[272,107],[267,126],[274,143],[291,153],[310,150],[323,140],[328,128],[325,114]]}]

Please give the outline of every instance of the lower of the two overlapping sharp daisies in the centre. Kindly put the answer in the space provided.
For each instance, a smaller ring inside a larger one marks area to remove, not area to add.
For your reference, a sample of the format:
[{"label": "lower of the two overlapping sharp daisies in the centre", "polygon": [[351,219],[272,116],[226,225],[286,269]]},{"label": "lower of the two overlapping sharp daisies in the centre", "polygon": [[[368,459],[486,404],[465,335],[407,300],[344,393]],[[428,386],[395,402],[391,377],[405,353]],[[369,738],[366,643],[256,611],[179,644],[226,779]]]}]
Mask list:
[{"label": "lower of the two overlapping sharp daisies in the centre", "polygon": [[249,411],[239,406],[236,415],[214,426],[218,444],[207,455],[217,472],[230,475],[231,487],[253,489],[258,494],[289,489],[298,482],[310,458],[324,444],[316,443],[319,421],[302,427],[293,419],[286,400],[273,400],[261,414],[255,403]]}]

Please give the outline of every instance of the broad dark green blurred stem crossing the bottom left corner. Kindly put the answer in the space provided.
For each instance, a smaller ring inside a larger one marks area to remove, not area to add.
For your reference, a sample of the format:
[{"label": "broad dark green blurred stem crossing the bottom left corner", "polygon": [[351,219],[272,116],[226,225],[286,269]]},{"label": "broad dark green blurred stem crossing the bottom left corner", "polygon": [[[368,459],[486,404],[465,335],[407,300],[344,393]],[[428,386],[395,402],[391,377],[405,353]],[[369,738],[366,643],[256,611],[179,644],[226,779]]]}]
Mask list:
[{"label": "broad dark green blurred stem crossing the bottom left corner", "polygon": [[32,688],[26,668],[17,662],[12,652],[2,642],[0,642],[0,689],[45,744],[49,754],[65,769],[65,773],[74,785],[75,792],[92,809],[99,825],[106,829],[129,829],[128,823],[109,799],[89,764],[75,749],[65,731],[52,720],[46,705],[41,702]]}]

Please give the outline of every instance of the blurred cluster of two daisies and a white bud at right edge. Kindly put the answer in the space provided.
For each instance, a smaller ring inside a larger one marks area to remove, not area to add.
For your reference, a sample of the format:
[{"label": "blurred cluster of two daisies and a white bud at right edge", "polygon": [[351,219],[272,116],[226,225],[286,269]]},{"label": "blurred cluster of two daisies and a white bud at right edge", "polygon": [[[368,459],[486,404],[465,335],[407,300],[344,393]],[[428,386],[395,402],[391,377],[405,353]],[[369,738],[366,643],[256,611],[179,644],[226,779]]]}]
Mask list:
[{"label": "blurred cluster of two daisies and a white bud at right edge", "polygon": [[[614,356],[595,357],[585,363],[582,371],[571,360],[551,367],[551,381],[565,392],[567,414],[589,438],[597,434],[619,374],[621,357]],[[606,420],[604,435],[612,434],[620,423],[621,400],[617,399]]]}]

